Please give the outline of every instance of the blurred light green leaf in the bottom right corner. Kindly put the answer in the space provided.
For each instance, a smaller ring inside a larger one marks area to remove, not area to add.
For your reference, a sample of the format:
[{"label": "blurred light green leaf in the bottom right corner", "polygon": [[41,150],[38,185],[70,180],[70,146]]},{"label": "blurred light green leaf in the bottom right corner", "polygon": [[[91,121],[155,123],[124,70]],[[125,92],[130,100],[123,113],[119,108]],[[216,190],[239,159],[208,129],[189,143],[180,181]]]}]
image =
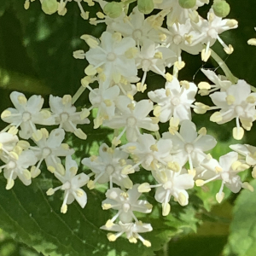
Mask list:
[{"label": "blurred light green leaf in the bottom right corner", "polygon": [[[256,180],[251,183],[256,189]],[[236,199],[225,256],[254,256],[256,252],[256,196],[246,189]]]}]

